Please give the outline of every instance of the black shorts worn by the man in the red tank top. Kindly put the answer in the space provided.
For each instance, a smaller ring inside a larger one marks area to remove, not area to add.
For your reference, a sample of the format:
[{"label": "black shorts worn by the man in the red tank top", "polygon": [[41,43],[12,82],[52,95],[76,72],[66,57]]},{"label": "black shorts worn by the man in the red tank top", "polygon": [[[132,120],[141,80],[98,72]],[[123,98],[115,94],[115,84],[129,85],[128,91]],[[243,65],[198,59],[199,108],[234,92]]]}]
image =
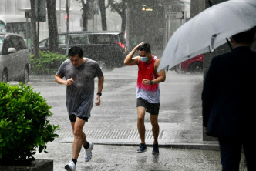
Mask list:
[{"label": "black shorts worn by the man in the red tank top", "polygon": [[160,103],[150,103],[147,100],[142,99],[141,97],[137,98],[137,107],[143,106],[146,108],[146,112],[149,112],[152,115],[158,115]]}]

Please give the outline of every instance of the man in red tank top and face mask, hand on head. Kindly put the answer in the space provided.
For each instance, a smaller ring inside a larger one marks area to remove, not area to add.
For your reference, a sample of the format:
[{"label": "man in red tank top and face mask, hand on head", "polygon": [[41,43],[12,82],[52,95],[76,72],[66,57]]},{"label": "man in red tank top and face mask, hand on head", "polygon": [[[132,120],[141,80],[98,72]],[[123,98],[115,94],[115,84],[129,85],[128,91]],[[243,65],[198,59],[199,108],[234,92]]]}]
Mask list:
[{"label": "man in red tank top and face mask, hand on head", "polygon": [[[133,58],[134,53],[138,50],[140,56]],[[145,112],[150,113],[150,121],[153,132],[153,154],[158,154],[158,113],[160,108],[160,89],[159,83],[165,81],[165,71],[157,72],[160,59],[151,55],[150,44],[140,43],[126,56],[125,65],[138,65],[138,79],[136,86],[137,112],[138,112],[138,131],[140,134],[140,148],[138,153],[147,151],[145,143]]]}]

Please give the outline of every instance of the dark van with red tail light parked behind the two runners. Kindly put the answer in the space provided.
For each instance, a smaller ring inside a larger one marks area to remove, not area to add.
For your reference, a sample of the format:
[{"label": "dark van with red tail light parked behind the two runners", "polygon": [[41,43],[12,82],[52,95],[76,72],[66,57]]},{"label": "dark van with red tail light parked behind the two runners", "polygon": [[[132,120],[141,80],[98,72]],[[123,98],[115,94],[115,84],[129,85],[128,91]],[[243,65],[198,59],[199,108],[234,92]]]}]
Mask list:
[{"label": "dark van with red tail light parked behind the two runners", "polygon": [[[102,69],[123,66],[127,47],[124,32],[69,32],[69,48],[79,45],[84,56],[99,62]],[[39,50],[49,50],[49,38],[39,42]],[[66,54],[66,32],[59,34],[59,53]]]}]

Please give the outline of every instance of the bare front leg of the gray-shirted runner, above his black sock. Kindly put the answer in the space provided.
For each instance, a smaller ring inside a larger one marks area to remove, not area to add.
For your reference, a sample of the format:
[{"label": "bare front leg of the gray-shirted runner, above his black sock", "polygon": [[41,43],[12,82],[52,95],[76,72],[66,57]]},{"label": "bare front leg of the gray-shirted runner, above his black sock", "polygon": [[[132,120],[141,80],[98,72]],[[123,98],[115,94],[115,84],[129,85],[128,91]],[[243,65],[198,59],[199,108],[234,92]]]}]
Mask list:
[{"label": "bare front leg of the gray-shirted runner, above his black sock", "polygon": [[74,134],[74,142],[72,144],[72,158],[78,159],[82,145],[86,145],[86,135],[83,132],[85,120],[76,117],[76,122],[72,122],[72,129]]}]

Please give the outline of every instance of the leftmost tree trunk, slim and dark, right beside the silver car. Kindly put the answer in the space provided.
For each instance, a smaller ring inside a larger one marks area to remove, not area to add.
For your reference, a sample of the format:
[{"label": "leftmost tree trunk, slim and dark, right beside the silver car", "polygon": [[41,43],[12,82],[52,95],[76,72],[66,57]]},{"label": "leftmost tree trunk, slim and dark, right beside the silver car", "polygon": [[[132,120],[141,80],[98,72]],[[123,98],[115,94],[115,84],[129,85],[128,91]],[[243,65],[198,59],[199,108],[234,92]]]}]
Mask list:
[{"label": "leftmost tree trunk, slim and dark, right beside the silver car", "polygon": [[31,34],[33,43],[33,53],[35,59],[39,59],[39,40],[36,32],[36,15],[35,15],[35,0],[30,0],[31,5]]}]

